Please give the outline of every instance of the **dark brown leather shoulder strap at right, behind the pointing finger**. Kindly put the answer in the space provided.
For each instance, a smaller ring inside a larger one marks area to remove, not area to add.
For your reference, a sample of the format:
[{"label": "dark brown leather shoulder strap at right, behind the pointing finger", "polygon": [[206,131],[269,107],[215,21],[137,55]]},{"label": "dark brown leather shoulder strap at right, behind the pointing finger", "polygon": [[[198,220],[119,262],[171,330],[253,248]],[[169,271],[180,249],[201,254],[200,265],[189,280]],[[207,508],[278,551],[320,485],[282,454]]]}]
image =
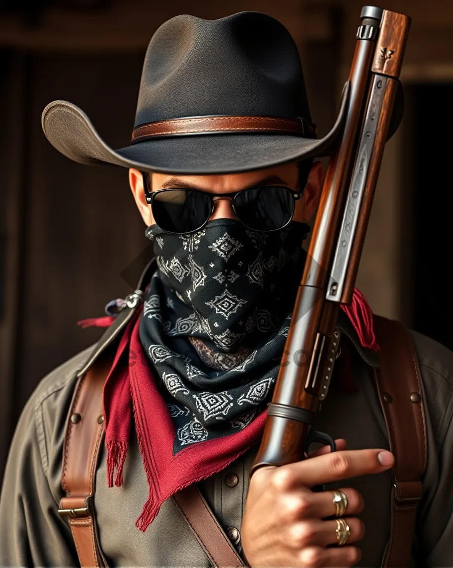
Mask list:
[{"label": "dark brown leather shoulder strap at right, behind the pointing finger", "polygon": [[384,566],[408,566],[421,477],[427,461],[423,389],[408,329],[399,321],[374,316],[380,345],[376,385],[395,457],[391,533]]}]

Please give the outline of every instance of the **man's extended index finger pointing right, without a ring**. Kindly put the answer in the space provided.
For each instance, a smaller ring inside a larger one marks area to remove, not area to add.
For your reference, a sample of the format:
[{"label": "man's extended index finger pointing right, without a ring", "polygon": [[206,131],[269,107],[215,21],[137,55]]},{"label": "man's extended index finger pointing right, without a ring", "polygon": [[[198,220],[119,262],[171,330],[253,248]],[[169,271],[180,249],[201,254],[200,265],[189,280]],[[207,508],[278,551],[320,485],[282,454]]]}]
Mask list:
[{"label": "man's extended index finger pointing right, without a ring", "polygon": [[300,485],[313,487],[359,475],[381,473],[392,467],[393,462],[393,454],[387,450],[346,450],[281,466],[275,476],[277,483],[281,481],[285,489]]}]

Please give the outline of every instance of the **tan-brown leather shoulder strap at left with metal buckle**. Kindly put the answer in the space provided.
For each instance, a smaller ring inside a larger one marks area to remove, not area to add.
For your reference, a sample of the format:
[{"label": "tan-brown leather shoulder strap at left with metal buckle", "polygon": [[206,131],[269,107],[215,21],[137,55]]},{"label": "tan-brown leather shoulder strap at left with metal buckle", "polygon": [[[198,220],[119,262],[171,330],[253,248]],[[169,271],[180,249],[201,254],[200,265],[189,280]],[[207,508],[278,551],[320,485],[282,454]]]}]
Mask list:
[{"label": "tan-brown leather shoulder strap at left with metal buckle", "polygon": [[63,446],[60,515],[68,517],[82,567],[107,566],[99,546],[94,479],[104,428],[102,390],[113,356],[99,357],[77,382]]}]

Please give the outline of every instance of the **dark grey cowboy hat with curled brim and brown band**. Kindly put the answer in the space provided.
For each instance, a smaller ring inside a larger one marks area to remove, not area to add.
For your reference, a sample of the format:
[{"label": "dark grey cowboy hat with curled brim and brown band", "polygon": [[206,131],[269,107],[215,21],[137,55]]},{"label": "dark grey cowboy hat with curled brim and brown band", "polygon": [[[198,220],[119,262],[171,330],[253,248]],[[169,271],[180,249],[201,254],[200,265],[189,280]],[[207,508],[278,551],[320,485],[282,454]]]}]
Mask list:
[{"label": "dark grey cowboy hat with curled brim and brown band", "polygon": [[111,149],[67,101],[47,105],[42,124],[50,143],[82,164],[244,172],[329,154],[346,99],[344,89],[334,126],[317,139],[297,47],[280,22],[251,11],[180,15],[149,43],[130,145]]}]

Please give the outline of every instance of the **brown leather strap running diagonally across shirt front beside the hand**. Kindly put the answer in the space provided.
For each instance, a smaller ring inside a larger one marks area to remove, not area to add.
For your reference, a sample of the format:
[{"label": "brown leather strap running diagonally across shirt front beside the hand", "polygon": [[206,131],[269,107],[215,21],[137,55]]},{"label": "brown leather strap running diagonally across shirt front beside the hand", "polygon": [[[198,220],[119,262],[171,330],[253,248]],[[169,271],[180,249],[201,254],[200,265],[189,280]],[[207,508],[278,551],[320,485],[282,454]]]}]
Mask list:
[{"label": "brown leather strap running diagonally across shirt front beside the hand", "polygon": [[200,491],[191,485],[174,495],[190,530],[215,568],[245,566]]}]

